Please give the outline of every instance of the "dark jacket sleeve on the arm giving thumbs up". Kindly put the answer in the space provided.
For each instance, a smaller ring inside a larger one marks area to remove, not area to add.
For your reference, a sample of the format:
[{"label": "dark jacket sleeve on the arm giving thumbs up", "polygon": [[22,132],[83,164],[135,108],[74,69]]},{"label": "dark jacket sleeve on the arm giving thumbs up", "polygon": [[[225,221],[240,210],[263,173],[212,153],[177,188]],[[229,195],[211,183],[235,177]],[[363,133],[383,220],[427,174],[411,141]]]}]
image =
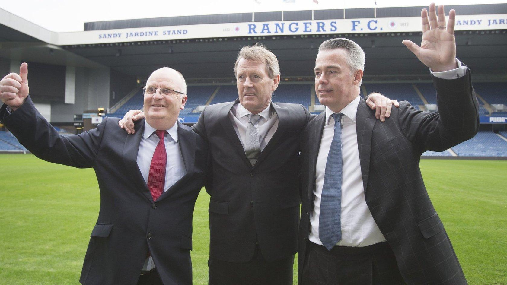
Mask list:
[{"label": "dark jacket sleeve on the arm giving thumbs up", "polygon": [[21,107],[8,114],[4,104],[0,121],[19,142],[40,159],[78,168],[93,167],[107,118],[96,129],[69,136],[60,135],[35,109],[28,96]]}]

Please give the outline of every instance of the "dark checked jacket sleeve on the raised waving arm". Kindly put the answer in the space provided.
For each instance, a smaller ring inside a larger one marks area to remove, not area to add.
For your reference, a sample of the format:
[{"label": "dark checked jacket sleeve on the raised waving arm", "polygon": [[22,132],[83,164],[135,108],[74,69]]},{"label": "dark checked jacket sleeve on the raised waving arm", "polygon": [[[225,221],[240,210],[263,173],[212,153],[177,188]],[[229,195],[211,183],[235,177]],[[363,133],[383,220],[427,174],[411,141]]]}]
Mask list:
[{"label": "dark checked jacket sleeve on the raised waving arm", "polygon": [[474,137],[479,130],[479,103],[470,70],[457,79],[431,77],[437,90],[439,112],[416,110],[403,101],[397,116],[404,135],[419,147],[421,153],[445,151]]}]

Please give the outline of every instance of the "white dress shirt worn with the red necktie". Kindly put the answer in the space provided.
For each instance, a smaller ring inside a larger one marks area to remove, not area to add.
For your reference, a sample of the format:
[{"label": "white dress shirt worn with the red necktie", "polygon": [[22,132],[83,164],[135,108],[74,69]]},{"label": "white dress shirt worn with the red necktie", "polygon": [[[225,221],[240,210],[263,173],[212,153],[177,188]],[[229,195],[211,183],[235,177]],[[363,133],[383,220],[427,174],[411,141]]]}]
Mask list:
[{"label": "white dress shirt worn with the red necktie", "polygon": [[[159,143],[159,137],[155,133],[156,129],[144,121],[144,132],[142,133],[139,151],[137,152],[137,166],[141,171],[144,182],[148,185],[148,176],[150,174],[150,166],[152,164],[155,148]],[[167,154],[167,164],[165,169],[164,192],[181,179],[187,170],[183,162],[182,152],[178,145],[178,123],[174,123],[167,133],[164,134],[165,151]],[[153,258],[150,256],[144,261],[142,270],[152,270],[155,268]]]}]

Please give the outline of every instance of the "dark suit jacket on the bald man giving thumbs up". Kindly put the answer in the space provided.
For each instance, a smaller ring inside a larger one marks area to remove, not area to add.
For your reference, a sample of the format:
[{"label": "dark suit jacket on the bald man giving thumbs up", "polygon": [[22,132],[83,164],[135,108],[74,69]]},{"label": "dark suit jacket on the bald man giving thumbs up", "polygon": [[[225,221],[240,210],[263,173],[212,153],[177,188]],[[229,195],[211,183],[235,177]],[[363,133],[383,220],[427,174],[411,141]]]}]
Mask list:
[{"label": "dark suit jacket on the bald man giving thumbs up", "polygon": [[[136,284],[150,250],[165,285],[192,284],[192,214],[203,186],[207,145],[178,123],[178,144],[187,174],[154,203],[137,167],[144,120],[135,134],[104,118],[96,129],[60,136],[35,110],[31,99],[1,121],[35,156],[69,166],[93,167],[100,211],[81,273],[82,284]],[[79,193],[77,193],[79,199]]]}]

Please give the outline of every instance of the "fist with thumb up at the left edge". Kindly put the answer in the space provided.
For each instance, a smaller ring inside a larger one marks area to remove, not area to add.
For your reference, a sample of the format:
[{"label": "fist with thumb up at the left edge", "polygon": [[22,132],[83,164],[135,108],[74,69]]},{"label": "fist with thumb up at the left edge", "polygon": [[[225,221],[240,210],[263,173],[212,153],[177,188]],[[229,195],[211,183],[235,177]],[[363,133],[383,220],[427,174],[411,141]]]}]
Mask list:
[{"label": "fist with thumb up at the left edge", "polygon": [[11,73],[0,80],[0,100],[16,111],[28,96],[28,64],[21,63],[19,74]]}]

